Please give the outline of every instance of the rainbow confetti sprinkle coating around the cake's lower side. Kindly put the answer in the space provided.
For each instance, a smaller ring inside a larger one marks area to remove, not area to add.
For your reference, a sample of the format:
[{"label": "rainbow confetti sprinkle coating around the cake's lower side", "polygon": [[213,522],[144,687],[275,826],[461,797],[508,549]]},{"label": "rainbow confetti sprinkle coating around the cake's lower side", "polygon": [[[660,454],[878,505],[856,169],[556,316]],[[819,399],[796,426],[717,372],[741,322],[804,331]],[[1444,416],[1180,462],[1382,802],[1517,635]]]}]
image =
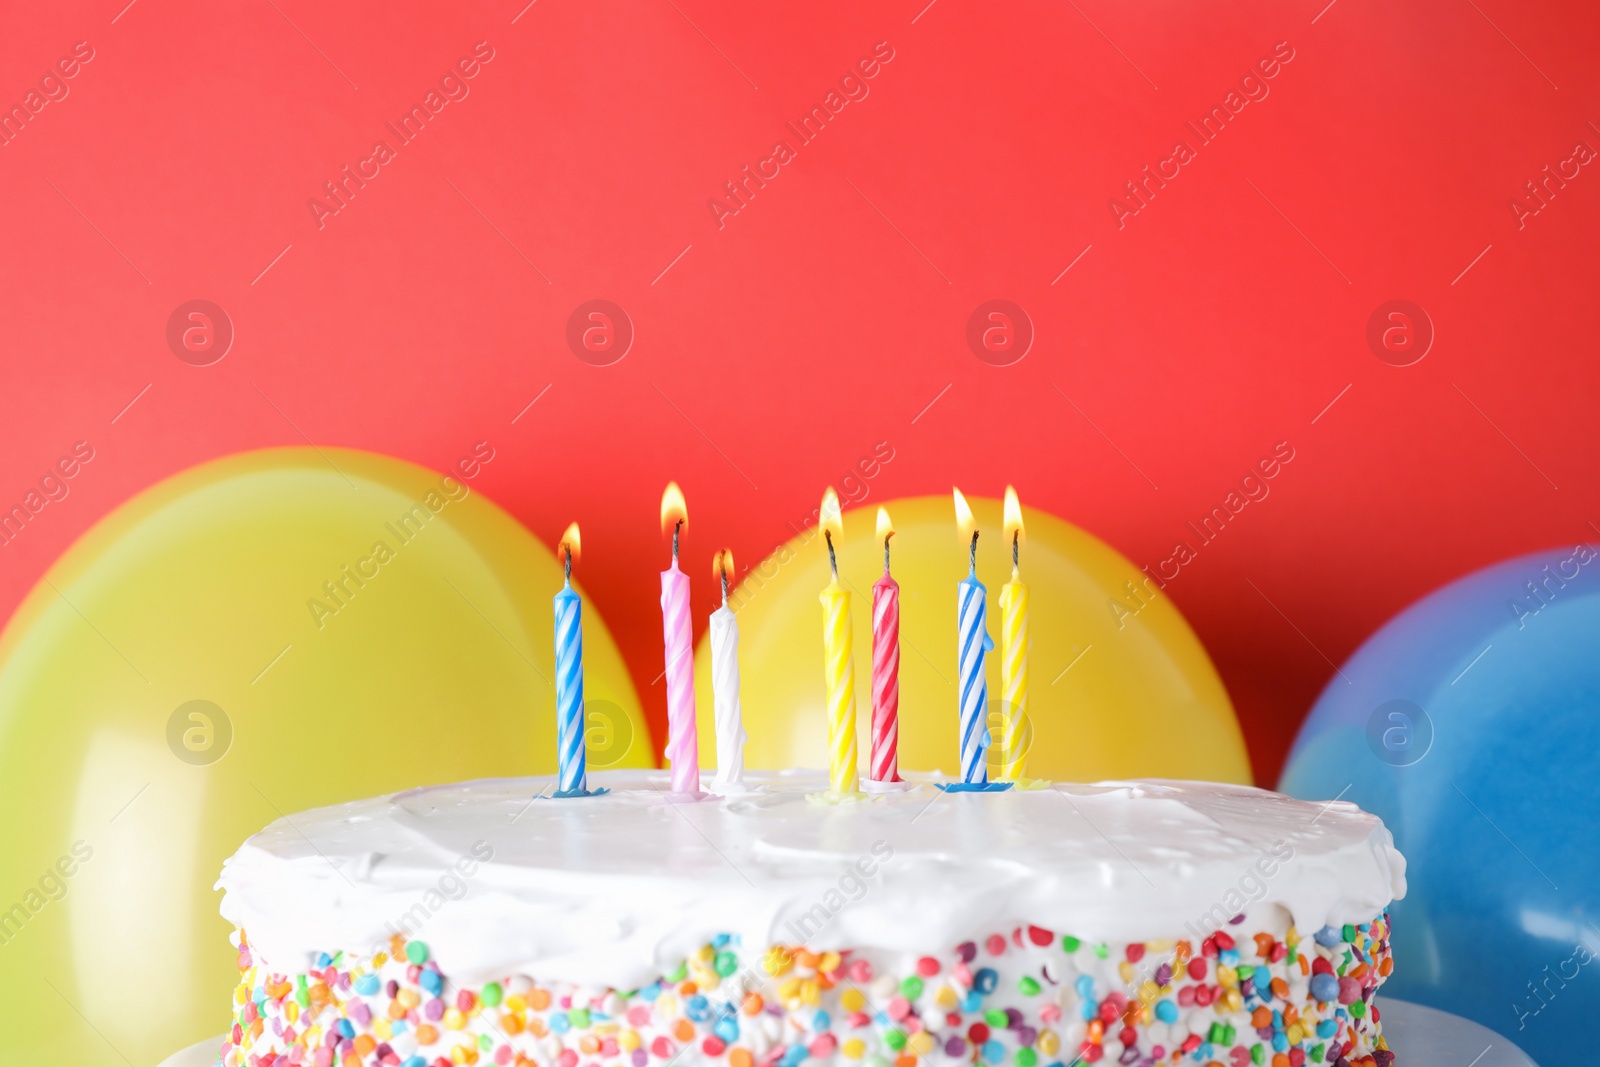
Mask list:
[{"label": "rainbow confetti sprinkle coating around the cake's lower side", "polygon": [[[1243,917],[1230,925],[1237,926]],[[1192,941],[1040,926],[878,973],[854,952],[718,936],[637,990],[514,976],[458,987],[427,944],[270,974],[235,934],[224,1067],[1390,1067],[1373,997],[1389,915]]]}]

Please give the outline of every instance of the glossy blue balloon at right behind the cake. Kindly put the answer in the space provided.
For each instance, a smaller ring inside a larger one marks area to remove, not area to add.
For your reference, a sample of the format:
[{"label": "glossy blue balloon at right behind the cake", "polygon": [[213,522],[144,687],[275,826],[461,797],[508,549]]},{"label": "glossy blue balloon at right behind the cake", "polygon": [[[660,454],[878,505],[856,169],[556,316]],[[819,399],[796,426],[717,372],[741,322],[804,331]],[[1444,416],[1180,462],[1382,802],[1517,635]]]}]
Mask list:
[{"label": "glossy blue balloon at right behind the cake", "polygon": [[1600,552],[1525,555],[1402,611],[1328,681],[1278,789],[1394,832],[1386,993],[1546,1064],[1597,1054]]}]

